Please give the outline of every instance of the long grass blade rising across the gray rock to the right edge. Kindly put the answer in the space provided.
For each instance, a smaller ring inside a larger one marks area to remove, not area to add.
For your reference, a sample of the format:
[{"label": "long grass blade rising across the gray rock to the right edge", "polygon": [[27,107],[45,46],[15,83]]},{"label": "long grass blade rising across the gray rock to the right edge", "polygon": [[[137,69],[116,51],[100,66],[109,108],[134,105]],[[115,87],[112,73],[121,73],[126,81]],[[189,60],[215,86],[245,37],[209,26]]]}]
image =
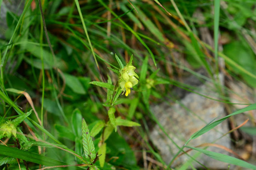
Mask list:
[{"label": "long grass blade rising across the gray rock to the right edge", "polygon": [[223,117],[222,119],[218,120],[218,121],[215,121],[209,125],[206,125],[205,127],[203,127],[202,129],[198,130],[196,133],[192,134],[192,136],[190,137],[189,140],[192,140],[192,139],[195,139],[197,138],[198,136],[201,136],[202,134],[208,132],[209,130],[211,130],[212,128],[216,127],[217,125],[219,125],[220,123],[222,123],[223,121],[225,121],[226,119],[228,119],[229,117],[231,116],[234,116],[234,115],[237,115],[239,113],[243,113],[243,112],[246,112],[246,111],[251,111],[251,110],[254,110],[256,109],[256,103],[253,104],[253,105],[250,105],[248,107],[245,107],[244,109],[241,109],[241,110],[238,110],[226,117]]}]

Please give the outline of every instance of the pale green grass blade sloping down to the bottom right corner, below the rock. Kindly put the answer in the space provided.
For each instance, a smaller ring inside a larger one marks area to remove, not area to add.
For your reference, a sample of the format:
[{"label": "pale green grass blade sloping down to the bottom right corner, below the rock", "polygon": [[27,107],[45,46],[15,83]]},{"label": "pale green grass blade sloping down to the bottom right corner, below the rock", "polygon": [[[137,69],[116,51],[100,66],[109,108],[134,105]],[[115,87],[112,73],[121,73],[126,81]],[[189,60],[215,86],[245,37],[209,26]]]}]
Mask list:
[{"label": "pale green grass blade sloping down to the bottom right corner, below the rock", "polygon": [[245,162],[244,160],[240,160],[240,159],[234,158],[232,156],[228,156],[225,154],[220,154],[217,152],[212,152],[212,151],[208,151],[208,150],[204,150],[204,149],[194,148],[194,147],[190,147],[190,146],[186,146],[186,148],[191,148],[191,149],[197,150],[198,152],[202,152],[203,154],[206,154],[210,158],[219,160],[221,162],[226,162],[229,164],[242,166],[244,168],[250,168],[250,169],[254,169],[254,170],[256,169],[255,165],[249,164],[248,162]]}]

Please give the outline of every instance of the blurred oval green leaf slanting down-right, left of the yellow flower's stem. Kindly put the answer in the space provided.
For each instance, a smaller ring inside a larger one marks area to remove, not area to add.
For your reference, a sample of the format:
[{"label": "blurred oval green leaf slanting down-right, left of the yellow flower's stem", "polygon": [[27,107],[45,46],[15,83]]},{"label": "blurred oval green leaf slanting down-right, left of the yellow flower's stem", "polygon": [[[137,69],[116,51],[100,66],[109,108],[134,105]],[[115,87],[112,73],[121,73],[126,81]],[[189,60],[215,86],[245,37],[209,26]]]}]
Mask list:
[{"label": "blurred oval green leaf slanting down-right, left of the yellow flower's stem", "polygon": [[66,73],[63,73],[63,75],[65,77],[66,85],[70,87],[72,91],[81,95],[84,95],[86,93],[82,83],[79,81],[79,79],[76,76],[66,74]]}]

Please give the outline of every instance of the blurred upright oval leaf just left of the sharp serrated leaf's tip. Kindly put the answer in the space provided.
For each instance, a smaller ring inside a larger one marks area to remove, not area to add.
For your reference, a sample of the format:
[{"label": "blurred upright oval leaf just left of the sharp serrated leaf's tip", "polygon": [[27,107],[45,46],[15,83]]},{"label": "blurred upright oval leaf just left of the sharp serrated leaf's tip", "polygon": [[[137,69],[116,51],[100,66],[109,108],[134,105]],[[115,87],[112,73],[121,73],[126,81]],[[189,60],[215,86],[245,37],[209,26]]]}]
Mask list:
[{"label": "blurred upright oval leaf just left of the sharp serrated leaf's tip", "polygon": [[82,113],[79,109],[74,109],[71,115],[71,127],[75,136],[82,136]]}]

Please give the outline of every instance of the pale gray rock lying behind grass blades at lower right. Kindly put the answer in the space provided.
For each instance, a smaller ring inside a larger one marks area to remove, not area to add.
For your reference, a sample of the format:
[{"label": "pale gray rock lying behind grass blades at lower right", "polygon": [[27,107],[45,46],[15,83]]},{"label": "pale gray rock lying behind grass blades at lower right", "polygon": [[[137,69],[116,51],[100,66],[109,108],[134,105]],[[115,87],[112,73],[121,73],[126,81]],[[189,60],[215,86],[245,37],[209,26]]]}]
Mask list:
[{"label": "pale gray rock lying behind grass blades at lower right", "polygon": [[[198,92],[218,99],[218,93],[214,92],[214,86],[210,82],[200,85],[198,87]],[[182,100],[176,102],[174,105],[170,105],[170,101],[167,101],[166,103],[154,105],[151,109],[158,118],[160,124],[167,131],[170,138],[172,138],[172,140],[174,140],[180,147],[185,144],[192,134],[206,126],[208,123],[214,119],[220,119],[226,116],[222,103],[194,93],[187,94]],[[191,140],[188,143],[188,146],[195,147],[203,143],[213,142],[214,144],[220,144],[230,148],[229,136],[222,137],[228,130],[228,122],[224,121],[202,136]],[[160,151],[164,161],[169,164],[170,160],[172,160],[173,156],[178,152],[178,148],[164,134],[164,132],[162,132],[158,125],[152,130],[150,138]],[[185,148],[185,150],[188,149]],[[228,152],[225,150],[213,146],[208,147],[207,150],[228,155]],[[188,152],[191,156],[195,155],[195,153],[197,152],[194,150]],[[182,155],[174,161],[172,167],[183,165],[189,159],[188,156]],[[200,154],[195,159],[210,169],[228,168],[228,164],[214,160],[204,154]],[[196,162],[194,162],[193,165],[196,168],[202,167]]]}]

